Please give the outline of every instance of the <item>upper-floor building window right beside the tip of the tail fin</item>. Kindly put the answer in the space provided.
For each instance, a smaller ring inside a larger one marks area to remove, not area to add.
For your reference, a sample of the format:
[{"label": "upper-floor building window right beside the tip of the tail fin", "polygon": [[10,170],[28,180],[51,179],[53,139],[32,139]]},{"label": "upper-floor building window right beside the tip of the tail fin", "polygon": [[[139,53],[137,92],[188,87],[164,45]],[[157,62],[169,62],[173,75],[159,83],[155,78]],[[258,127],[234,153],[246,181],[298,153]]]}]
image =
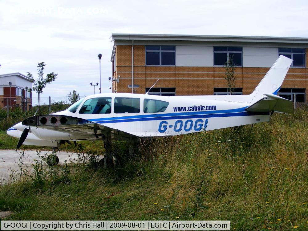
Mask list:
[{"label": "upper-floor building window right beside the tip of the tail fin", "polygon": [[305,48],[278,48],[278,53],[293,59],[291,67],[305,67]]}]

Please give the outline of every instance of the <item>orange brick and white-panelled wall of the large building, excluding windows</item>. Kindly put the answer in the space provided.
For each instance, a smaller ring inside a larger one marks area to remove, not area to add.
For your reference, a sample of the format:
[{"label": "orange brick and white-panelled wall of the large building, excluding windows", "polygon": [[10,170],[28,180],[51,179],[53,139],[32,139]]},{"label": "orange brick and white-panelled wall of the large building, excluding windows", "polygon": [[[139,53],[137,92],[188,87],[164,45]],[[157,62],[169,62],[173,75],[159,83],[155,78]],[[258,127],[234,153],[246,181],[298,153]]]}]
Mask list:
[{"label": "orange brick and white-panelled wall of the large building, excluding windows", "polygon": [[[281,47],[284,47],[283,45]],[[289,46],[292,47],[292,46]],[[306,67],[308,67],[306,49]],[[236,87],[250,94],[278,58],[278,47],[243,47],[242,67],[236,68]],[[132,92],[132,46],[115,47],[114,77],[120,75],[117,92]],[[214,87],[227,87],[225,68],[213,67],[213,46],[176,46],[175,66],[146,66],[145,45],[134,45],[135,93],[146,87],[175,87],[176,95],[213,95]],[[290,68],[283,88],[308,88],[307,68]],[[306,90],[306,101],[308,101]]]}]

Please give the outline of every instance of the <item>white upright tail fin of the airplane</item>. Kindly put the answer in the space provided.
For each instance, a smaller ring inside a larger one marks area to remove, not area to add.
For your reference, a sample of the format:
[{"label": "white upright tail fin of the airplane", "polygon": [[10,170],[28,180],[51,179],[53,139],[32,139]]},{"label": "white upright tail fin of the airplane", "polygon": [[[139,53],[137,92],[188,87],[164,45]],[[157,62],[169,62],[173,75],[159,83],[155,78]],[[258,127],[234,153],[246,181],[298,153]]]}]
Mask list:
[{"label": "white upright tail fin of the airplane", "polygon": [[250,94],[252,96],[252,102],[256,102],[263,98],[264,93],[277,95],[292,61],[292,59],[286,56],[279,56],[256,89]]}]

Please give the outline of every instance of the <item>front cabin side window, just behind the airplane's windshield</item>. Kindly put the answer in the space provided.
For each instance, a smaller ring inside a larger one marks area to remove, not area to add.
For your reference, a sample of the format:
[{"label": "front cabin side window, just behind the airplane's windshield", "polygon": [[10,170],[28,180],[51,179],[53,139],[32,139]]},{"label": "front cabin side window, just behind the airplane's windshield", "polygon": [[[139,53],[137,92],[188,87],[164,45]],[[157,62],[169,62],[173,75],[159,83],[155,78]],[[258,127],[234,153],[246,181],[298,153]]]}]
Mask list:
[{"label": "front cabin side window, just behind the airplane's windshield", "polygon": [[79,110],[79,114],[109,114],[111,113],[111,97],[87,99]]}]

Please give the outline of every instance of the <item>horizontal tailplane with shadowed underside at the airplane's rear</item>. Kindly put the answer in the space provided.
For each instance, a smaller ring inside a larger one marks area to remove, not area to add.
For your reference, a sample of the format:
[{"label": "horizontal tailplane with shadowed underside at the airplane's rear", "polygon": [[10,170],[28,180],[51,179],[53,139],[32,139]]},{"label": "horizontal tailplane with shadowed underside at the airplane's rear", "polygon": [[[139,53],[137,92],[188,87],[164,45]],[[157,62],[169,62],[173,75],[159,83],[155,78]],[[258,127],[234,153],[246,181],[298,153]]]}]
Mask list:
[{"label": "horizontal tailplane with shadowed underside at the airplane's rear", "polygon": [[291,100],[268,93],[264,93],[264,95],[266,97],[263,97],[256,103],[253,103],[247,107],[246,110],[254,112],[278,111],[287,114],[294,113],[294,104]]}]

